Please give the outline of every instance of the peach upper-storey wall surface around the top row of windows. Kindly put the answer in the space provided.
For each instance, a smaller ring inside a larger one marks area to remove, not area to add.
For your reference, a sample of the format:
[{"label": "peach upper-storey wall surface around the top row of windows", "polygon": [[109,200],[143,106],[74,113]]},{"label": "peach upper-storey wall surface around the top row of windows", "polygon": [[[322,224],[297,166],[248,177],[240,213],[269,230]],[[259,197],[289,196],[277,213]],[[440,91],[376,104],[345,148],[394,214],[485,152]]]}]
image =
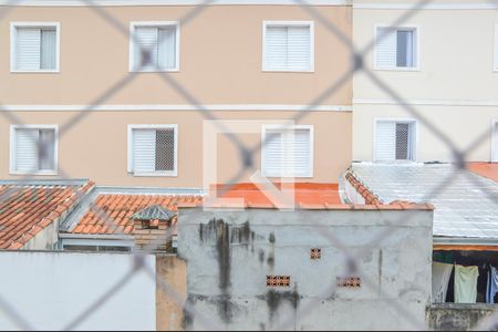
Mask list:
[{"label": "peach upper-storey wall surface around the top row of windows", "polygon": [[[0,21],[1,104],[91,104],[128,73],[131,21],[174,21],[194,7],[108,7],[118,31],[84,7],[21,7]],[[320,7],[345,35],[351,35],[351,7]],[[181,25],[180,71],[170,77],[204,104],[309,104],[346,70],[349,52],[322,24],[315,24],[314,73],[261,71],[263,20],[313,20],[297,6],[209,6]],[[61,72],[10,73],[9,23],[61,23]],[[154,73],[141,73],[106,104],[190,104]],[[323,101],[351,105],[351,82]]]}]

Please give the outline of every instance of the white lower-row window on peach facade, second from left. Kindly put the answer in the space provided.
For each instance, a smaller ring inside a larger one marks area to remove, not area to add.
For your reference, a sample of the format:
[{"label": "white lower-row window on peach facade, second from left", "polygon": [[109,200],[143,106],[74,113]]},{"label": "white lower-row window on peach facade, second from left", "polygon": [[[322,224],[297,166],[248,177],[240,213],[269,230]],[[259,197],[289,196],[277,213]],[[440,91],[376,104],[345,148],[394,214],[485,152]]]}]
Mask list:
[{"label": "white lower-row window on peach facade, second from left", "polygon": [[136,176],[176,176],[177,146],[177,125],[128,126],[128,172]]}]

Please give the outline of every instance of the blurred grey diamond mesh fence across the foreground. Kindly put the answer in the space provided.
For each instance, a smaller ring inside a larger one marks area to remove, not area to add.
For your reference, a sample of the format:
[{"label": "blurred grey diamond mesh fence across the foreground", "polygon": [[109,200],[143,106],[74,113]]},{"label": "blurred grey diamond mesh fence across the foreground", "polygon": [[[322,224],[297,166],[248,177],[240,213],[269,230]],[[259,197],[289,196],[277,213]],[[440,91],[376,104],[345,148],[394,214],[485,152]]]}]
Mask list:
[{"label": "blurred grey diamond mesh fence across the foreground", "polygon": [[[398,27],[406,23],[408,20],[415,18],[417,13],[423,10],[426,6],[429,6],[434,0],[422,0],[413,4],[411,10],[406,10],[404,14],[402,14],[397,20],[395,20],[392,23],[392,27]],[[4,20],[6,15],[12,11],[15,11],[17,6],[22,4],[22,0],[12,0],[8,6],[3,6],[0,8],[0,21]],[[135,34],[129,35],[129,28],[124,25],[118,19],[113,17],[113,13],[108,11],[106,7],[96,6],[94,1],[91,0],[82,0],[89,9],[91,9],[95,15],[102,18],[105,20],[110,25],[112,25],[116,31],[118,31],[123,37],[125,38],[133,38],[136,39]],[[216,0],[206,0],[201,4],[195,6],[190,11],[187,12],[183,18],[180,18],[178,21],[180,22],[181,27],[185,27],[189,24],[193,20],[196,20],[196,18],[203,15],[206,8],[208,8],[211,4],[215,4]],[[350,53],[350,65],[349,68],[344,69],[344,72],[342,75],[339,76],[335,81],[331,82],[329,87],[321,91],[317,94],[317,97],[309,101],[308,106],[299,112],[299,114],[293,118],[294,122],[301,122],[303,121],[313,110],[315,110],[318,106],[321,106],[329,97],[333,96],[341,87],[343,87],[345,84],[351,82],[353,75],[362,73],[364,74],[371,82],[373,82],[378,89],[381,89],[387,96],[390,96],[392,100],[394,100],[400,107],[403,107],[403,110],[408,114],[411,117],[416,118],[418,123],[421,123],[423,126],[425,126],[433,135],[435,135],[440,142],[443,142],[446,146],[446,148],[452,152],[452,154],[455,157],[455,168],[460,172],[463,176],[468,177],[471,180],[475,180],[474,177],[469,177],[466,172],[466,160],[469,156],[469,154],[475,151],[483,142],[485,142],[489,137],[489,128],[483,128],[483,135],[480,135],[478,138],[476,138],[474,142],[471,142],[468,147],[460,149],[458,148],[453,141],[445,135],[429,118],[424,116],[422,112],[419,112],[414,105],[411,105],[408,102],[404,101],[404,98],[401,96],[401,94],[397,92],[398,86],[393,87],[390,86],[385,81],[383,81],[381,77],[377,76],[377,74],[369,69],[365,65],[364,59],[365,56],[371,53],[374,49],[375,42],[382,42],[383,39],[386,38],[386,34],[381,34],[377,37],[376,40],[372,40],[365,48],[359,49],[352,41],[350,35],[345,35],[341,29],[339,29],[333,21],[328,19],[325,15],[323,15],[319,7],[310,6],[304,0],[294,0],[295,6],[299,6],[303,12],[305,12],[310,19],[314,20],[318,24],[323,25],[326,31],[334,35],[340,43],[343,44],[344,48],[349,50]],[[494,1],[490,1],[494,6],[496,4]],[[498,8],[497,8],[498,10]],[[354,22],[353,22],[354,24]],[[390,29],[385,29],[385,31],[388,31]],[[167,38],[167,33],[159,34],[159,39]],[[160,43],[160,40],[158,41]],[[153,56],[153,50],[144,48],[141,52],[141,68],[155,68],[157,69],[157,62],[154,62]],[[123,91],[123,89],[127,85],[129,85],[132,82],[136,80],[136,77],[139,75],[139,72],[132,71],[129,73],[126,73],[121,80],[115,82],[111,87],[108,87],[106,91],[103,91],[102,94],[97,95],[94,100],[92,100],[89,103],[89,107],[86,110],[82,110],[76,115],[74,115],[72,118],[70,118],[66,123],[62,124],[59,129],[59,137],[63,139],[64,135],[73,129],[74,127],[79,126],[86,117],[92,116],[93,112],[100,106],[105,104],[107,101],[110,101],[113,96],[115,96],[117,93]],[[255,163],[253,158],[255,155],[260,153],[262,147],[268,144],[268,139],[262,141],[257,146],[246,146],[243,142],[239,139],[237,134],[229,133],[227,128],[222,125],[222,120],[218,118],[217,115],[212,110],[209,110],[208,106],[206,106],[205,103],[200,98],[198,98],[193,91],[189,89],[189,86],[184,86],[174,75],[172,75],[168,72],[160,72],[157,71],[155,73],[160,81],[163,82],[165,87],[173,89],[176,93],[178,93],[187,104],[193,106],[197,112],[209,121],[214,121],[216,125],[220,126],[220,129],[225,133],[228,132],[228,134],[225,134],[228,136],[230,142],[237,147],[237,149],[240,152],[239,157],[241,159],[241,165],[245,165],[243,169],[241,169],[231,180],[229,180],[226,185],[224,185],[222,189],[219,191],[219,194],[222,196],[224,193],[229,191],[234,185],[240,183],[242,180],[243,174],[247,170],[255,172]],[[24,123],[15,116],[14,112],[9,112],[7,108],[1,106],[0,101],[0,115],[3,116],[8,123],[15,124],[15,125],[24,125]],[[406,135],[405,135],[406,136]],[[165,142],[170,139],[172,137],[165,136],[162,139]],[[34,138],[32,138],[34,139]],[[40,151],[45,151],[46,147],[40,146],[40,142],[43,143],[45,141],[37,141],[37,145],[39,146]],[[408,152],[401,152],[402,154],[407,155]],[[173,163],[170,159],[160,160],[162,164],[165,166],[170,166]],[[35,169],[33,169],[35,170]],[[32,173],[32,172],[31,172]],[[59,174],[60,177],[63,179],[70,179],[71,174],[64,170],[64,165],[59,165]],[[31,176],[25,175],[21,178],[22,180],[30,180]],[[444,178],[440,183],[436,184],[434,188],[430,190],[430,193],[424,197],[423,200],[430,201],[434,198],[436,198],[452,181],[454,180],[454,174],[448,175],[448,177]],[[18,189],[10,188],[9,190],[4,191],[0,199],[1,201],[7,201],[9,198],[14,197],[18,194]],[[484,191],[483,195],[486,195],[489,199],[492,199],[497,206],[498,206],[498,197],[494,195],[494,193],[486,193]],[[95,208],[95,206],[92,206],[92,211],[98,216],[101,219],[105,220],[105,224],[107,224],[110,227],[115,226],[113,218],[107,215],[105,210]],[[299,207],[297,207],[299,209]],[[406,215],[403,216],[403,219],[409,219],[413,216],[411,211],[407,211]],[[371,242],[364,246],[363,250],[360,252],[356,252],[356,255],[353,255],[351,250],[349,250],[347,246],[344,245],[340,238],[335,237],[330,231],[324,231],[323,228],[320,228],[320,230],[317,230],[320,232],[320,236],[326,237],[330,241],[330,243],[341,250],[343,256],[346,258],[347,261],[347,268],[346,268],[346,274],[354,274],[359,276],[362,279],[362,282],[365,287],[375,287],[374,281],[370,280],[366,276],[363,276],[361,272],[361,269],[359,266],[361,264],[361,255],[364,252],[369,252],[371,248],[380,242],[385,241],[390,236],[390,231],[385,231],[380,234],[378,236],[372,238]],[[172,229],[168,229],[166,232],[165,238],[172,236]],[[89,319],[94,312],[98,311],[106,301],[112,298],[120,289],[125,288],[127,282],[134,278],[134,276],[138,271],[145,270],[146,273],[151,277],[151,279],[154,280],[154,282],[158,283],[158,287],[162,291],[164,291],[169,298],[174,299],[177,304],[181,308],[184,308],[186,314],[190,317],[195,317],[196,320],[201,321],[203,325],[207,330],[224,330],[224,326],[216,325],[209,317],[205,317],[203,312],[196,311],[195,308],[193,308],[188,302],[183,299],[181,294],[179,294],[170,284],[165,282],[164,280],[157,279],[155,272],[151,270],[145,263],[144,263],[144,252],[147,251],[155,251],[157,247],[160,246],[162,241],[164,241],[165,238],[159,238],[156,241],[153,241],[145,250],[141,252],[134,252],[129,255],[129,259],[134,261],[133,268],[129,270],[128,273],[122,277],[118,283],[116,283],[113,288],[111,288],[107,292],[103,293],[101,297],[96,298],[94,303],[90,305],[85,311],[81,312],[81,314],[74,319],[72,322],[70,322],[65,326],[61,326],[62,330],[74,330],[80,326],[80,324]],[[336,289],[336,282],[335,280],[324,290],[324,293],[332,294]],[[314,305],[318,305],[319,303],[310,303],[307,307],[300,308],[300,314],[305,315],[310,313]],[[387,302],[392,309],[397,312],[401,317],[406,319],[407,321],[413,322],[413,326],[415,329],[425,330],[427,329],[426,325],[419,325],[418,320],[416,318],[413,318],[412,314],[405,310],[403,305],[397,303],[397,301]],[[6,314],[8,314],[12,321],[17,322],[17,325],[21,330],[34,330],[37,326],[32,326],[29,324],[28,321],[23,319],[22,313],[17,312],[14,307],[11,305],[11,303],[4,301],[2,299],[2,294],[0,292],[0,310],[2,310]],[[483,321],[479,328],[481,329],[496,329],[498,324],[498,310],[496,313],[494,313],[491,317],[489,317],[486,321]],[[292,323],[290,321],[282,320],[280,324],[278,324],[280,328],[279,330],[288,330],[292,329]],[[354,326],[352,326],[354,328]]]}]

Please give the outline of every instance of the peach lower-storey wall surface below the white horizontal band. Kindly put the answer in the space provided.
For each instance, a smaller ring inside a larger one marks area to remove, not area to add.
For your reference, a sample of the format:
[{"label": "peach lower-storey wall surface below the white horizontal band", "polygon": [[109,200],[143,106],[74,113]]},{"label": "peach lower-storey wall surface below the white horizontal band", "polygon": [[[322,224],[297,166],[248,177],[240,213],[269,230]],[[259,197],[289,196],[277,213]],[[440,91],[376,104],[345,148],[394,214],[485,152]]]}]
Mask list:
[{"label": "peach lower-storey wall surface below the white horizontal band", "polygon": [[[7,113],[24,124],[58,124],[59,176],[63,178],[90,177],[105,186],[191,187],[203,186],[201,113],[188,112],[103,112],[87,113],[70,129],[63,129],[77,112],[17,112]],[[264,121],[293,118],[297,112],[215,112],[222,120]],[[351,162],[352,116],[347,112],[310,112],[297,124],[314,126],[314,177],[298,181],[338,183],[339,175]],[[24,178],[9,175],[9,127],[11,120],[0,117],[0,178]],[[178,125],[178,176],[135,177],[127,174],[128,124]],[[261,142],[259,133],[245,135],[248,147]],[[237,149],[220,139],[218,146],[219,183],[231,179],[241,168]],[[260,154],[255,155],[260,167]],[[240,181],[248,180],[248,174]]]}]

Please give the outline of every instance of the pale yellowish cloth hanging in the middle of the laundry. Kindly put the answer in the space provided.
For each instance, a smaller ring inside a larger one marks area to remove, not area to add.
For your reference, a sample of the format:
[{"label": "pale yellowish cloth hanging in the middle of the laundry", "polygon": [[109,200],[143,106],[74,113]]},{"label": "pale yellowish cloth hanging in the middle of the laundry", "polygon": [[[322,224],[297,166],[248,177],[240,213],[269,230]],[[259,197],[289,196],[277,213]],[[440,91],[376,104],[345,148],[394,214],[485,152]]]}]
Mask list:
[{"label": "pale yellowish cloth hanging in the middle of the laundry", "polygon": [[455,266],[455,303],[476,303],[477,267]]}]

